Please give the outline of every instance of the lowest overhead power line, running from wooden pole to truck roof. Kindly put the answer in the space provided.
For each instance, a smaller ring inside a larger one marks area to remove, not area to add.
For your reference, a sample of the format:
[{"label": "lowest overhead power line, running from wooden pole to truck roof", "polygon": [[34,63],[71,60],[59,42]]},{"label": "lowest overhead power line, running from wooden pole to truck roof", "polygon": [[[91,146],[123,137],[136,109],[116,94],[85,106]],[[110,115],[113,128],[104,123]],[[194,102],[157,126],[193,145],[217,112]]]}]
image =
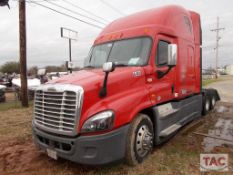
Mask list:
[{"label": "lowest overhead power line, running from wooden pole to truck roof", "polygon": [[66,16],[66,17],[75,19],[75,20],[77,20],[77,21],[79,21],[79,22],[85,23],[85,24],[90,25],[90,26],[92,26],[92,27],[96,27],[96,28],[99,28],[99,29],[103,29],[103,27],[101,27],[101,26],[99,26],[99,25],[96,25],[96,24],[87,22],[87,21],[85,21],[85,20],[79,19],[79,18],[74,17],[74,16],[72,16],[72,15],[69,15],[69,14],[67,14],[67,13],[60,12],[60,11],[58,11],[58,10],[56,10],[56,9],[53,9],[53,8],[48,7],[48,6],[46,6],[46,5],[40,4],[40,3],[38,3],[38,2],[35,2],[35,1],[26,1],[26,2],[27,2],[27,3],[33,3],[33,4],[36,4],[36,5],[38,5],[38,6],[44,7],[44,8],[46,8],[46,9],[52,10],[52,11],[54,11],[54,12],[56,12],[56,13],[59,13],[59,14],[64,15],[64,16]]}]

